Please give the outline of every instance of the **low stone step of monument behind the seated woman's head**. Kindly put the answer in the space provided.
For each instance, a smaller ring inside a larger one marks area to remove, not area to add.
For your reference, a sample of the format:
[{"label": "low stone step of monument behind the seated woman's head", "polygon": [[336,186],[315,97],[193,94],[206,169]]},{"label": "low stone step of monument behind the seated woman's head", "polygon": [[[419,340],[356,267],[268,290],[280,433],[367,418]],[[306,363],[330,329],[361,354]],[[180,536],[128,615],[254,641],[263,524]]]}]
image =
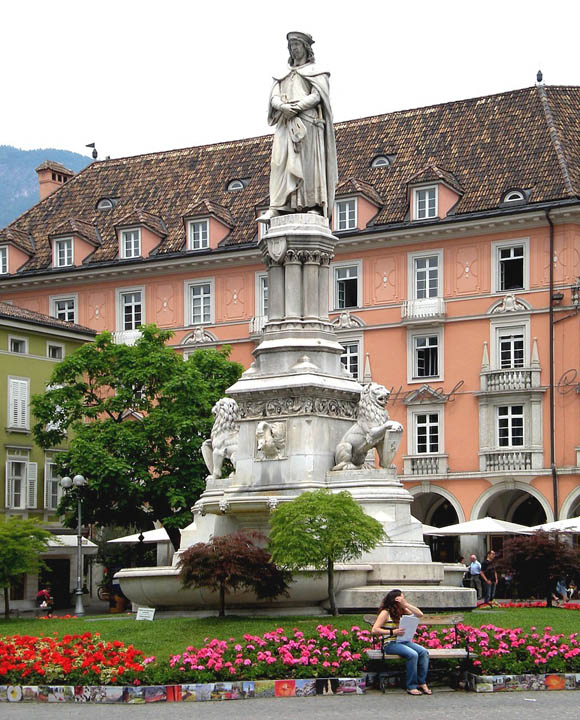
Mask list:
[{"label": "low stone step of monument behind the seated woman's head", "polygon": [[[336,605],[342,612],[373,612],[385,595],[400,585],[363,585],[340,590]],[[407,600],[421,610],[470,610],[476,607],[476,592],[472,588],[448,585],[406,585],[400,587]],[[322,603],[328,607],[328,601]]]}]

